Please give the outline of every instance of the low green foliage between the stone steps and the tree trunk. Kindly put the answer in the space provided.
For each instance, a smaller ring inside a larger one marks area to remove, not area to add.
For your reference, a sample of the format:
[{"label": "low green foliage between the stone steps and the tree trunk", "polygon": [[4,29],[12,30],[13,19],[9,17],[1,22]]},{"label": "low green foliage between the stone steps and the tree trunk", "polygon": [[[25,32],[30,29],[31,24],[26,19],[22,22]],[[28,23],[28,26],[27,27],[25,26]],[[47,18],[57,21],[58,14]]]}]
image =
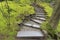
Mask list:
[{"label": "low green foliage between the stone steps and the tree trunk", "polygon": [[56,32],[56,30],[54,30],[54,28],[51,27],[51,25],[48,23],[48,21],[42,23],[41,25],[42,29],[46,30],[47,32],[54,34]]}]

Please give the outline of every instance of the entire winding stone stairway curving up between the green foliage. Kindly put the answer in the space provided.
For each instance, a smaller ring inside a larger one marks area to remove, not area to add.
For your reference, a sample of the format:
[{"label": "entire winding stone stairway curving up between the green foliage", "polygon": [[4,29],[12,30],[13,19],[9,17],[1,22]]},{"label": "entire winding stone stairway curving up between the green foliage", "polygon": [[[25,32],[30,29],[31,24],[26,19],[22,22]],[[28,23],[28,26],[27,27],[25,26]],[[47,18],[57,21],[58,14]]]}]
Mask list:
[{"label": "entire winding stone stairway curving up between the green foliage", "polygon": [[21,23],[21,30],[17,34],[18,40],[42,40],[44,33],[40,30],[41,23],[46,20],[46,14],[40,7],[34,6],[36,13],[27,17],[27,21]]}]

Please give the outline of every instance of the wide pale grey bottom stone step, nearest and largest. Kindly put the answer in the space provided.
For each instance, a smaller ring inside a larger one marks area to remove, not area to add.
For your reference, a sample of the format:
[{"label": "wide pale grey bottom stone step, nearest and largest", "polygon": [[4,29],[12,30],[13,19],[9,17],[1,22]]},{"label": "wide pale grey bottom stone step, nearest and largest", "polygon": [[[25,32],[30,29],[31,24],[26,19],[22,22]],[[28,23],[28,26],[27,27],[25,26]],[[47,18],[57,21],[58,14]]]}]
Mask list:
[{"label": "wide pale grey bottom stone step, nearest and largest", "polygon": [[17,37],[44,37],[44,35],[41,31],[19,31]]}]

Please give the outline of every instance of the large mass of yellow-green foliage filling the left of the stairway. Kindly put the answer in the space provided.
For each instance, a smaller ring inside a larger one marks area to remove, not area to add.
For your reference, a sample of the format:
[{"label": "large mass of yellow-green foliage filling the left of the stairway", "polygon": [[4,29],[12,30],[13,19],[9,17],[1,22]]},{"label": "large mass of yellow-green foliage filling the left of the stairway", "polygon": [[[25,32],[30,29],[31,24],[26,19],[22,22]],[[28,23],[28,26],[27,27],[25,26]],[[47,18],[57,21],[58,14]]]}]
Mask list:
[{"label": "large mass of yellow-green foliage filling the left of the stairway", "polygon": [[28,4],[21,6],[14,1],[8,1],[8,13],[6,4],[5,1],[0,2],[0,35],[9,36],[3,40],[13,40],[13,36],[16,36],[17,30],[19,30],[18,24],[23,21],[25,16],[34,14],[34,8]]}]

